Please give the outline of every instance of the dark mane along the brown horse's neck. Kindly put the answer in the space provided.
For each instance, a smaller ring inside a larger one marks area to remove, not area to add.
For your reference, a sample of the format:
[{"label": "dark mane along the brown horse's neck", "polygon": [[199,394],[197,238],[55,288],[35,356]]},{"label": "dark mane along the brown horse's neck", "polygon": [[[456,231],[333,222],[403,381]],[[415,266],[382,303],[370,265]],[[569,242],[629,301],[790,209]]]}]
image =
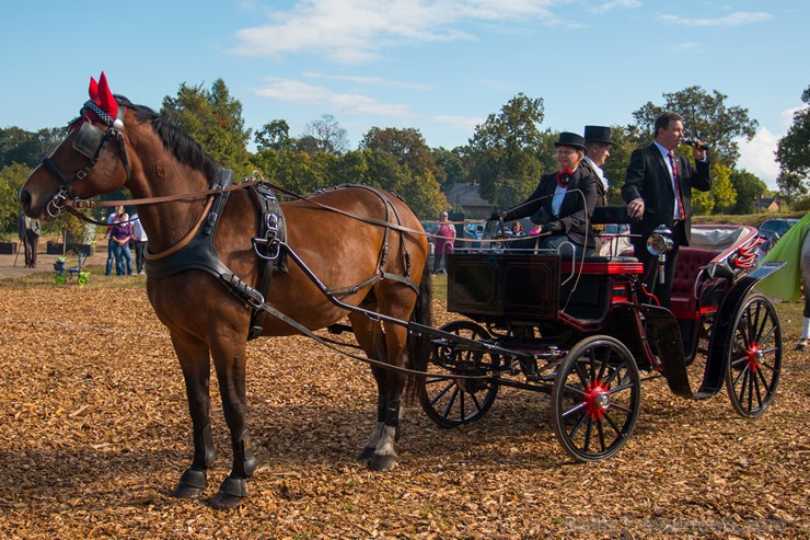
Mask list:
[{"label": "dark mane along the brown horse's neck", "polygon": [[217,163],[202,150],[199,142],[194,140],[187,133],[146,105],[136,105],[125,96],[117,94],[115,95],[115,100],[118,102],[118,105],[132,111],[138,120],[149,122],[154,134],[163,142],[163,146],[178,161],[200,171],[208,179],[209,183],[216,179]]}]

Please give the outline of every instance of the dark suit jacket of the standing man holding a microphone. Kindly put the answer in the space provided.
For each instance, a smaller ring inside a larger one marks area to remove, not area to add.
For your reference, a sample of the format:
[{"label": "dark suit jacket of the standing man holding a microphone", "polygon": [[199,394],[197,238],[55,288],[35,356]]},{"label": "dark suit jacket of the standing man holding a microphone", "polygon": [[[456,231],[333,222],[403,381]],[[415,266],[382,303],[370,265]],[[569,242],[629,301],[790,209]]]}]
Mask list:
[{"label": "dark suit jacket of the standing man holding a microphone", "polygon": [[[685,218],[683,234],[676,234],[673,240],[678,245],[688,245],[692,238],[692,188],[702,192],[711,188],[709,164],[707,161],[698,161],[693,165],[686,158],[675,153],[675,165],[681,182]],[[641,220],[630,223],[630,232],[641,235],[634,239],[634,242],[646,242],[647,237],[659,225],[672,228],[675,192],[672,189],[672,177],[664,158],[655,143],[633,151],[630,164],[627,166],[627,177],[622,187],[622,197],[626,203],[639,197],[644,199]]]}]

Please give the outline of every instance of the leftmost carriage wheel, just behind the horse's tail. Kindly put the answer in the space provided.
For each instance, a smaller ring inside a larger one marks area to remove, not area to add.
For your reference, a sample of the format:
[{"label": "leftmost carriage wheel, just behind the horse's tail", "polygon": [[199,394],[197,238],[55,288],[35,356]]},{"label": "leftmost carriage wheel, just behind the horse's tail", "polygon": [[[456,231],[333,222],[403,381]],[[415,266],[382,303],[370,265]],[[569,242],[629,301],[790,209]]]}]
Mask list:
[{"label": "leftmost carriage wheel, just behind the horse's tail", "polygon": [[[453,321],[439,330],[475,341],[491,337],[484,328],[471,321]],[[458,427],[484,417],[498,394],[495,380],[444,379],[430,374],[486,376],[494,374],[498,364],[497,356],[470,351],[463,345],[435,345],[421,398],[425,413],[442,427]]]}]

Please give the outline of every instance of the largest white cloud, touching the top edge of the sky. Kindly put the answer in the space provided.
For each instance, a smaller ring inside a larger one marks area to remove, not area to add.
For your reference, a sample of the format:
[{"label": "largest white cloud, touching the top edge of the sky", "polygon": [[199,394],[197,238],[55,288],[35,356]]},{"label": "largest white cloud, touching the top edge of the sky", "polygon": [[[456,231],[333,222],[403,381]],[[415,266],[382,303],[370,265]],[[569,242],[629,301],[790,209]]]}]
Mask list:
[{"label": "largest white cloud, touching the top edge of the sky", "polygon": [[559,0],[300,0],[276,11],[271,22],[236,32],[238,56],[323,55],[362,64],[402,44],[474,39],[454,25],[466,21],[555,23],[549,7]]}]

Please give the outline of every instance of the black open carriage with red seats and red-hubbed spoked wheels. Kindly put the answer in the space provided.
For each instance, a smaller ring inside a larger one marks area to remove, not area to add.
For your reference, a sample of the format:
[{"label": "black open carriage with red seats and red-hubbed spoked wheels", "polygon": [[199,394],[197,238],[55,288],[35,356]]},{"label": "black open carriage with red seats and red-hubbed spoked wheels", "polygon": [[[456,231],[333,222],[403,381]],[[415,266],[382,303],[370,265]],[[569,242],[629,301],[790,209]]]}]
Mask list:
[{"label": "black open carriage with red seats and red-hubbed spoked wheels", "polygon": [[[611,215],[622,211],[602,214]],[[482,418],[500,387],[548,393],[563,448],[594,461],[632,435],[643,374],[664,377],[688,399],[725,386],[739,414],[763,414],[779,381],[782,332],[774,306],[752,289],[780,263],[754,269],[756,230],[693,227],[670,309],[651,301],[641,264],[621,241],[612,239],[604,256],[575,260],[502,245],[451,255],[448,311],[466,319],[433,340],[428,416],[455,427]],[[694,388],[688,374],[703,364]]]}]

